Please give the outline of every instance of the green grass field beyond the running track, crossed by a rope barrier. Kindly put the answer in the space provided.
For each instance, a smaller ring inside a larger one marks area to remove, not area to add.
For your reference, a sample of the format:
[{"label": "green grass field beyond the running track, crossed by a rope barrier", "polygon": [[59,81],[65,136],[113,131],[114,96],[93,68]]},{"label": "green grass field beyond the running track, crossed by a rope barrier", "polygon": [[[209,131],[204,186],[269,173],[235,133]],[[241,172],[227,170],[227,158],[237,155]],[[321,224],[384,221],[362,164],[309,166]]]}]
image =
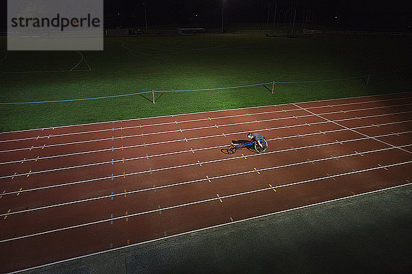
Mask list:
[{"label": "green grass field beyond the running track, crossed by a rope barrier", "polygon": [[282,84],[273,94],[263,86],[156,93],[155,105],[150,93],[0,105],[0,132],[404,92],[412,87],[410,38],[106,38],[104,51],[82,51],[82,55],[76,51],[6,51],[6,40],[0,42],[1,103],[372,75],[367,86],[363,79]]}]

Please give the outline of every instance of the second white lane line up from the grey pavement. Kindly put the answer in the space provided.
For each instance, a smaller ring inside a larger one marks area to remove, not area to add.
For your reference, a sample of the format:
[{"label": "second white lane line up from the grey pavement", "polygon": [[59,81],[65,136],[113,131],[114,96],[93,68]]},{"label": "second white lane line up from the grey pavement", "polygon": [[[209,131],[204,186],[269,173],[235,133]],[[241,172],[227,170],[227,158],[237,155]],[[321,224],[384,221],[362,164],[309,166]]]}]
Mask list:
[{"label": "second white lane line up from the grey pavement", "polygon": [[[48,231],[45,231],[45,232],[38,232],[38,233],[34,233],[34,234],[27,234],[27,235],[24,235],[24,236],[3,239],[3,240],[0,240],[0,243],[1,242],[10,242],[12,240],[20,240],[20,239],[24,239],[24,238],[31,238],[31,237],[34,237],[34,236],[41,236],[41,235],[45,235],[45,234],[51,234],[51,233],[54,233],[54,232],[62,232],[62,231],[65,231],[65,230],[76,229],[76,228],[79,228],[79,227],[86,227],[86,226],[89,226],[89,225],[97,225],[97,224],[100,224],[100,223],[107,223],[109,221],[116,221],[116,220],[121,220],[121,219],[125,219],[125,218],[131,218],[131,217],[139,216],[139,215],[143,215],[143,214],[150,214],[150,213],[159,212],[159,211],[172,210],[172,209],[175,209],[175,208],[183,208],[185,206],[193,206],[193,205],[196,205],[196,204],[199,204],[199,203],[206,203],[206,202],[209,202],[209,201],[216,201],[218,199],[228,199],[228,198],[232,198],[232,197],[239,197],[239,196],[242,196],[242,195],[249,195],[249,194],[253,194],[253,193],[262,192],[262,191],[265,191],[265,190],[272,190],[273,188],[283,188],[283,187],[286,187],[286,186],[295,186],[295,185],[298,185],[298,184],[307,184],[307,183],[310,183],[310,182],[316,182],[316,181],[320,181],[320,180],[323,180],[323,179],[330,179],[330,178],[333,178],[333,177],[342,177],[342,176],[345,176],[345,175],[352,175],[354,173],[364,173],[364,172],[367,172],[367,171],[374,171],[374,170],[378,170],[378,169],[384,169],[385,167],[388,168],[388,167],[392,167],[392,166],[400,166],[400,165],[403,165],[403,164],[411,164],[411,163],[412,163],[412,161],[399,162],[399,163],[396,163],[396,164],[389,164],[389,165],[386,165],[386,166],[377,166],[377,167],[372,167],[372,168],[369,168],[369,169],[363,169],[363,170],[360,170],[360,171],[350,171],[350,172],[339,173],[339,174],[330,175],[330,176],[318,177],[318,178],[313,178],[313,179],[306,179],[306,180],[300,181],[300,182],[293,182],[293,183],[290,183],[290,184],[283,184],[283,185],[280,185],[280,186],[272,186],[272,187],[268,187],[268,188],[260,188],[260,189],[251,190],[251,191],[247,191],[247,192],[240,192],[240,193],[236,193],[236,194],[225,195],[225,196],[222,196],[222,197],[214,197],[214,198],[210,198],[210,199],[204,199],[204,200],[201,200],[201,201],[192,201],[190,203],[182,203],[182,204],[179,204],[179,205],[176,205],[176,206],[168,206],[166,208],[158,208],[158,209],[155,209],[155,210],[148,210],[148,211],[137,212],[137,213],[132,213],[132,214],[129,213],[128,215],[117,216],[117,217],[113,217],[113,218],[110,218],[110,219],[102,219],[102,220],[99,220],[99,221],[92,221],[92,222],[89,222],[89,223],[82,223],[82,224],[79,224],[79,225],[72,225],[70,227],[61,227],[61,228],[58,228],[58,229],[52,229],[52,230],[48,230]],[[352,197],[354,197],[354,195],[352,195]]]}]

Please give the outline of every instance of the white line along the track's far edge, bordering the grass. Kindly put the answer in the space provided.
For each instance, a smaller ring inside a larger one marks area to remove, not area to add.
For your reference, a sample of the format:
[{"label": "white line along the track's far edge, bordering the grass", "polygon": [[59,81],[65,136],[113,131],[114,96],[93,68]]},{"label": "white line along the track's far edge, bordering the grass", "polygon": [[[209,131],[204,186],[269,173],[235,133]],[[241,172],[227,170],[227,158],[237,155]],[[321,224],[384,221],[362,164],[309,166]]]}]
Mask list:
[{"label": "white line along the track's far edge, bordering the grass", "polygon": [[[406,95],[411,92],[396,92],[396,93],[391,93],[389,95]],[[345,98],[339,98],[339,99],[325,99],[325,100],[315,100],[315,101],[304,101],[304,102],[299,102],[299,103],[320,103],[320,102],[326,102],[326,101],[343,101],[343,100],[348,100],[348,99],[366,99],[370,97],[388,97],[389,95],[365,95],[365,96],[358,96],[358,97],[345,97]],[[397,100],[397,99],[409,99],[411,97],[406,97],[406,98],[393,98],[393,99],[382,99],[382,100],[377,100],[377,101],[391,101],[391,100]],[[369,102],[374,102],[374,101],[362,101],[358,103],[369,103]],[[356,104],[356,103],[352,103]],[[271,107],[276,107],[276,106],[282,106],[282,105],[292,105],[291,103],[283,103],[279,105],[259,105],[259,106],[254,106],[254,107],[247,107],[247,108],[231,108],[231,109],[225,109],[225,110],[209,110],[205,112],[188,112],[188,113],[183,113],[183,114],[173,114],[173,115],[163,115],[163,116],[152,116],[152,117],[146,117],[146,118],[138,118],[138,119],[124,119],[124,120],[116,120],[116,121],[106,121],[106,122],[96,122],[96,123],[84,123],[84,124],[78,124],[78,125],[62,125],[62,126],[56,126],[56,127],[43,127],[43,128],[36,128],[36,129],[23,129],[23,130],[16,130],[13,132],[0,132],[0,135],[2,134],[10,134],[10,133],[16,133],[16,132],[32,132],[36,130],[44,130],[44,129],[52,129],[52,128],[65,128],[65,127],[82,127],[86,125],[101,125],[101,124],[108,124],[108,123],[117,123],[117,122],[126,122],[126,121],[140,121],[140,120],[146,120],[146,119],[157,119],[157,118],[165,118],[165,117],[174,117],[174,116],[185,116],[185,115],[190,115],[190,114],[206,114],[206,113],[214,113],[214,112],[229,112],[233,110],[250,110],[254,108],[271,108]],[[342,104],[345,105],[345,104]],[[326,105],[327,106],[327,105]],[[324,106],[324,107],[326,107]],[[318,108],[321,108],[319,106]]]}]

